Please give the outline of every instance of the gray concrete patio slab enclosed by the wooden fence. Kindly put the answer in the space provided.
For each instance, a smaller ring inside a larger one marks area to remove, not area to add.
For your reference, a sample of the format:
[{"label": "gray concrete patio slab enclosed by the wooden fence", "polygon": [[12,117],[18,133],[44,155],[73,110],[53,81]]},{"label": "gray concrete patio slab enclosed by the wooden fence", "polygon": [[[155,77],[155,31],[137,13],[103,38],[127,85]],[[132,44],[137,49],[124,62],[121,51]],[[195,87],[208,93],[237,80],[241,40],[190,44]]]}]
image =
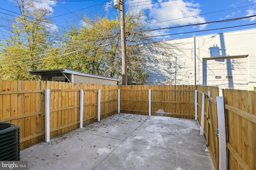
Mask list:
[{"label": "gray concrete patio slab enclosed by the wooden fence", "polygon": [[198,122],[119,113],[20,151],[33,170],[214,170]]}]

